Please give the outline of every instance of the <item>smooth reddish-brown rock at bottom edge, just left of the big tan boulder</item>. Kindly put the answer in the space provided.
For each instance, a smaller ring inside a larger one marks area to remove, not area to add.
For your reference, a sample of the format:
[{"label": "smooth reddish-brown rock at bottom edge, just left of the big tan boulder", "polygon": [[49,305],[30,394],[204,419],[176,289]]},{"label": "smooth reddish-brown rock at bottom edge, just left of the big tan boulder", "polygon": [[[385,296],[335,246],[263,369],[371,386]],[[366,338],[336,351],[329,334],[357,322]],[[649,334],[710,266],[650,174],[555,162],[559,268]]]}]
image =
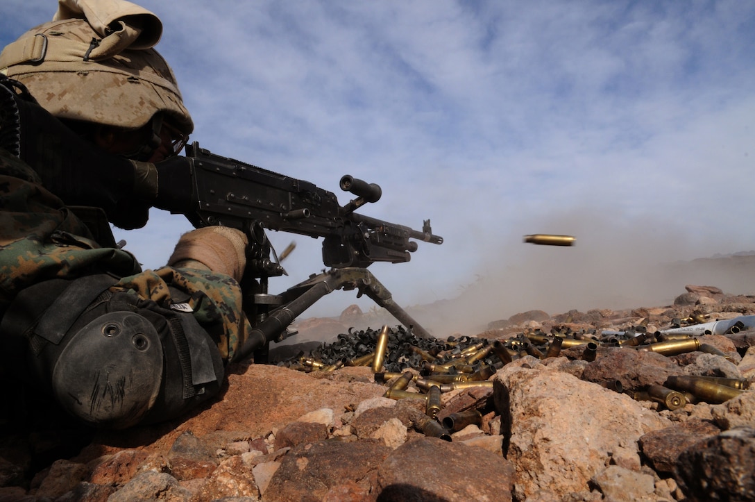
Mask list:
[{"label": "smooth reddish-brown rock at bottom edge, just left of the big tan boulder", "polygon": [[[399,446],[381,464],[381,502],[511,500],[514,468],[481,448],[421,437]],[[495,479],[495,482],[489,480]]]}]

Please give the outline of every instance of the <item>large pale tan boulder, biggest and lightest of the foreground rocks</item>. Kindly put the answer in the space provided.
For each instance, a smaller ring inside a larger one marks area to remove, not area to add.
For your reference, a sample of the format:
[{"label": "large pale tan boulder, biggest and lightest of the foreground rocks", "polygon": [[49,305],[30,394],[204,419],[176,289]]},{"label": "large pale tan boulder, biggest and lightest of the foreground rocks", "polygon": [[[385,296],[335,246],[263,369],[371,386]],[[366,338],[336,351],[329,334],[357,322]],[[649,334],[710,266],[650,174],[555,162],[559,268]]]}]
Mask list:
[{"label": "large pale tan boulder, biggest and lightest of the foreground rocks", "polygon": [[560,371],[506,365],[494,385],[519,500],[541,490],[589,491],[612,451],[636,448],[640,436],[670,425],[629,396]]}]

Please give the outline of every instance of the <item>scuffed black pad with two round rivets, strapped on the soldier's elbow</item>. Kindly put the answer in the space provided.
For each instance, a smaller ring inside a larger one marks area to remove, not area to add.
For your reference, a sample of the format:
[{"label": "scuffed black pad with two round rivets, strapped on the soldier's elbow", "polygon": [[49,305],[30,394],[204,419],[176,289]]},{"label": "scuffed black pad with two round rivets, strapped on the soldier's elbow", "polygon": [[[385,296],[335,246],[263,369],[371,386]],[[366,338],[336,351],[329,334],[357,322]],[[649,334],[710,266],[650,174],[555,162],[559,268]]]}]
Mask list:
[{"label": "scuffed black pad with two round rivets, strapped on the soldier's elbow", "polygon": [[168,420],[216,395],[223,362],[193,315],[110,293],[112,282],[55,279],[22,291],[0,329],[11,351],[27,347],[23,369],[95,427]]}]

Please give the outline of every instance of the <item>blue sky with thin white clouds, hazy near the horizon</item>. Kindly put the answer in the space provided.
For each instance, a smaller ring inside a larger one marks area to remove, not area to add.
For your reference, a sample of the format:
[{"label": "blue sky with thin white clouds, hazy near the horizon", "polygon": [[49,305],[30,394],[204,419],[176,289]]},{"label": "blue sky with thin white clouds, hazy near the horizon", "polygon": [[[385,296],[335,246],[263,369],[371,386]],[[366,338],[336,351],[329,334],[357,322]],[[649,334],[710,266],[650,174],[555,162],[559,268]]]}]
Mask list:
[{"label": "blue sky with thin white clouds, hazy near the horizon", "polygon": [[[352,174],[383,188],[362,213],[432,219],[442,246],[371,268],[399,303],[489,282],[501,316],[599,307],[627,281],[643,291],[655,263],[755,249],[753,2],[140,5],[164,23],[157,48],[193,140],[341,202]],[[55,8],[6,0],[0,45]],[[119,238],[156,267],[187,229],[155,211]],[[529,233],[577,244],[525,245]],[[271,290],[322,269],[319,242],[270,237],[297,242]],[[665,298],[686,283],[644,289]],[[313,313],[354,302],[334,295]]]}]

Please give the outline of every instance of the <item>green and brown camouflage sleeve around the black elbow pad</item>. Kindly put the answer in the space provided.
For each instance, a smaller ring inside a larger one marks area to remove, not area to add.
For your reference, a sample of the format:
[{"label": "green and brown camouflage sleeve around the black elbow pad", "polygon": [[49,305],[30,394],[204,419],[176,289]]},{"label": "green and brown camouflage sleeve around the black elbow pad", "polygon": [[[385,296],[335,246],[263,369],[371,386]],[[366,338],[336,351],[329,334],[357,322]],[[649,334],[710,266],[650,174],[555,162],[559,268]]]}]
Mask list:
[{"label": "green and brown camouflage sleeve around the black elbow pad", "polygon": [[2,149],[0,229],[0,317],[30,285],[109,273],[123,278],[111,288],[114,291],[131,291],[161,306],[188,303],[225,360],[233,357],[251,329],[236,281],[194,269],[142,271],[127,251],[100,247],[87,226],[41,186],[34,171]]}]

